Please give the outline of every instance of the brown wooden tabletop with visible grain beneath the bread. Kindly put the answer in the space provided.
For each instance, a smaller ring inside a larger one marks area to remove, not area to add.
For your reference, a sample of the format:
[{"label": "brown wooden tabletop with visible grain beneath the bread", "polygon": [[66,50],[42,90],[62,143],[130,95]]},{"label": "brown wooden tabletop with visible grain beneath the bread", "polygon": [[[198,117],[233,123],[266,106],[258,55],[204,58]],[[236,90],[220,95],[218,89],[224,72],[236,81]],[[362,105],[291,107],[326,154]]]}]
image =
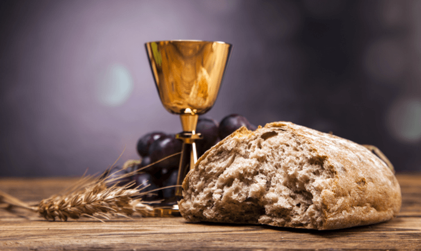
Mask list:
[{"label": "brown wooden tabletop with visible grain beneath the bread", "polygon": [[[263,225],[187,223],[181,217],[49,222],[25,209],[0,208],[0,250],[421,249],[421,175],[397,175],[399,215],[384,223],[334,231]],[[0,179],[0,190],[40,201],[74,178]]]}]

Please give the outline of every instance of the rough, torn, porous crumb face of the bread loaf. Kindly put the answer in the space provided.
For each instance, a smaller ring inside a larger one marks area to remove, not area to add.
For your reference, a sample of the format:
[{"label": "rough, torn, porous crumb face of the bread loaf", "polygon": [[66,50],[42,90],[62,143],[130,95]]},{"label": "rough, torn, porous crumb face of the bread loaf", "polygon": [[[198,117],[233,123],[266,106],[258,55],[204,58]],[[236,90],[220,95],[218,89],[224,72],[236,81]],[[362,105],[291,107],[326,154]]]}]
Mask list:
[{"label": "rough, torn, porous crumb face of the bread loaf", "polygon": [[[277,137],[275,137],[277,136]],[[300,137],[282,128],[233,137],[203,156],[189,177],[190,220],[319,228],[321,190],[335,173]],[[194,181],[194,182],[191,182]],[[200,191],[194,193],[192,191]]]}]

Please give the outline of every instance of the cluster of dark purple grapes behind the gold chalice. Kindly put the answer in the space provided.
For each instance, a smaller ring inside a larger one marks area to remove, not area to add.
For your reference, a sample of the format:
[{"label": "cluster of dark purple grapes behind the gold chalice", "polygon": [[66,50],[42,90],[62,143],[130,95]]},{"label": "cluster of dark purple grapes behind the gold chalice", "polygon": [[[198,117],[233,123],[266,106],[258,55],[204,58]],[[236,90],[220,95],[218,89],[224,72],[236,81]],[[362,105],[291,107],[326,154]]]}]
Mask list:
[{"label": "cluster of dark purple grapes behind the gold chalice", "polygon": [[[245,126],[249,130],[256,130],[256,127],[247,118],[239,114],[228,115],[220,123],[212,118],[199,117],[196,133],[200,133],[203,138],[196,141],[197,156],[200,157],[221,139],[226,138],[242,126]],[[135,185],[140,185],[141,187],[149,185],[144,188],[143,191],[145,192],[159,187],[176,185],[180,155],[172,156],[164,161],[160,160],[169,155],[181,152],[181,148],[182,142],[175,139],[175,135],[173,134],[152,132],[142,136],[137,142],[137,153],[141,157],[141,163],[134,167],[135,169],[142,168],[142,173],[116,182],[119,185],[131,181],[135,181]],[[155,162],[157,163],[146,167]],[[112,172],[116,172],[117,170],[119,168],[112,170]],[[125,170],[125,172],[130,171],[133,170]],[[174,191],[175,188],[158,190],[154,194],[148,195],[145,200],[170,198],[173,196]]]}]

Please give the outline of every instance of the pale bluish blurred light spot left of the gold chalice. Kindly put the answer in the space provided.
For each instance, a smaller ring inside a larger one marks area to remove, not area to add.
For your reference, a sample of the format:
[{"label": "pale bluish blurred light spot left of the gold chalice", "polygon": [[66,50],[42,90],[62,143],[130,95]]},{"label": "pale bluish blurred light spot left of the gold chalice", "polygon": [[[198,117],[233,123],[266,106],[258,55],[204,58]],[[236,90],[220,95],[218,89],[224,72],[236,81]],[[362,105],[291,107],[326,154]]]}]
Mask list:
[{"label": "pale bluish blurred light spot left of the gold chalice", "polygon": [[119,106],[133,90],[130,72],[121,64],[110,65],[97,85],[97,97],[101,104]]}]

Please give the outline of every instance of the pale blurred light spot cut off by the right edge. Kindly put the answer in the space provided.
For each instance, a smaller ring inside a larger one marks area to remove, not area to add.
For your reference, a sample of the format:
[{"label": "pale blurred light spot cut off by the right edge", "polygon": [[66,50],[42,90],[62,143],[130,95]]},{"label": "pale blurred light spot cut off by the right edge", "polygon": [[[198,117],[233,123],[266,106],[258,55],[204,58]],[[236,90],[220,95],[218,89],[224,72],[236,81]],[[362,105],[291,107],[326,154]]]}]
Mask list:
[{"label": "pale blurred light spot cut off by the right edge", "polygon": [[388,129],[396,140],[407,144],[421,141],[421,100],[399,98],[387,115]]}]

